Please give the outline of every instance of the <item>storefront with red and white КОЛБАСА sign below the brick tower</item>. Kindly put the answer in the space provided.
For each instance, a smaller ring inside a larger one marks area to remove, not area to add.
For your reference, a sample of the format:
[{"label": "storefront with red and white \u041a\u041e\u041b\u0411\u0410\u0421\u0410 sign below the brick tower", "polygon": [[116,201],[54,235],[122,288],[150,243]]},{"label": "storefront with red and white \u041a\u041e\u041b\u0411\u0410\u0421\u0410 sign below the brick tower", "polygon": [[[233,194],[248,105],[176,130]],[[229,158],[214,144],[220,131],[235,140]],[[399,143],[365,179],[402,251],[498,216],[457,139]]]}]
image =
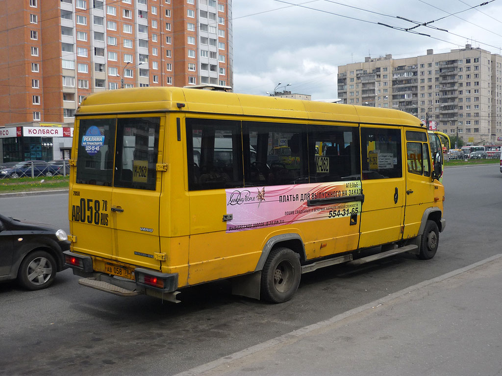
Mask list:
[{"label": "storefront with red and white \u041a\u041e\u041b\u0411\u0410\u0421\u0410 sign below the brick tower", "polygon": [[69,159],[73,127],[0,128],[0,162]]}]

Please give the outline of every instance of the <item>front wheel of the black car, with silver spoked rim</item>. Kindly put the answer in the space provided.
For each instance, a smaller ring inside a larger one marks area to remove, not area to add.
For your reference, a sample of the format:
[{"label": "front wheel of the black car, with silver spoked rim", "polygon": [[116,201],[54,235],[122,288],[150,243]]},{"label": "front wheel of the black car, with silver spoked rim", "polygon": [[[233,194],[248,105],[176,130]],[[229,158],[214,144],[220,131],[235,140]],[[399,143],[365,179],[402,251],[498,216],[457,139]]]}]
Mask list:
[{"label": "front wheel of the black car, with silver spoked rim", "polygon": [[54,281],[56,271],[56,260],[50,253],[35,251],[26,256],[21,262],[18,281],[28,290],[45,289]]}]

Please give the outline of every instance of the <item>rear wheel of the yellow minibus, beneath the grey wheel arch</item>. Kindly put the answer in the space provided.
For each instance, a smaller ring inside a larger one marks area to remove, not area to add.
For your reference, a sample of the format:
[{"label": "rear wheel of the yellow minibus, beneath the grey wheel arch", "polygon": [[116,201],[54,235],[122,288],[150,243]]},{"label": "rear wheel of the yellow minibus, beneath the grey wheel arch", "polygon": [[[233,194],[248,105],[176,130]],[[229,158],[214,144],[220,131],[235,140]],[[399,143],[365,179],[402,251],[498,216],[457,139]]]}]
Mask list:
[{"label": "rear wheel of the yellow minibus, beneath the grey wheel arch", "polygon": [[290,300],[301,278],[299,255],[289,248],[270,252],[262,270],[261,298],[272,303]]}]

